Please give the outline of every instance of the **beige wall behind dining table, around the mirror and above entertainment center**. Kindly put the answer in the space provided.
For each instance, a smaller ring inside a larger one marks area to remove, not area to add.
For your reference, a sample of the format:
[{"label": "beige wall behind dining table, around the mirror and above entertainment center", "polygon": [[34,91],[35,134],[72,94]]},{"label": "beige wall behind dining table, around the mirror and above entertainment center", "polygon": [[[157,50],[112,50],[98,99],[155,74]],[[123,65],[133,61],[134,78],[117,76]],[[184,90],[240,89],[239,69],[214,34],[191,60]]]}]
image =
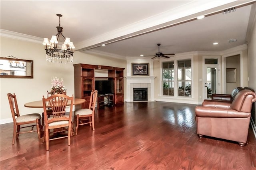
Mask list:
[{"label": "beige wall behind dining table, around the mirror and above entertainment center", "polygon": [[[20,59],[34,61],[33,79],[0,79],[0,123],[12,121],[7,93],[17,95],[20,114],[42,113],[42,109],[26,108],[24,103],[42,100],[46,91],[51,88],[51,78],[64,78],[67,95],[74,94],[74,67],[73,64],[85,63],[93,65],[109,65],[126,67],[126,61],[89,53],[74,52],[74,62],[70,64],[56,64],[46,62],[46,53],[41,43],[1,37],[1,57],[12,55]],[[124,72],[126,74],[126,70]],[[126,98],[126,97],[124,97]]]}]

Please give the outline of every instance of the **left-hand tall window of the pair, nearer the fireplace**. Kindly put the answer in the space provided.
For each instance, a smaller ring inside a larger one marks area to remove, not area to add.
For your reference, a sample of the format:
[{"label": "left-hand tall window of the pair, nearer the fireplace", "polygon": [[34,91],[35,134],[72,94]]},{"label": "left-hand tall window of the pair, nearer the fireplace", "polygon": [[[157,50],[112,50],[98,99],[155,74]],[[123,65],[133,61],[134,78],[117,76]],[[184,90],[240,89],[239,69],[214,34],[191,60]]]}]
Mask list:
[{"label": "left-hand tall window of the pair, nearer the fireplace", "polygon": [[174,61],[163,63],[163,95],[174,95]]}]

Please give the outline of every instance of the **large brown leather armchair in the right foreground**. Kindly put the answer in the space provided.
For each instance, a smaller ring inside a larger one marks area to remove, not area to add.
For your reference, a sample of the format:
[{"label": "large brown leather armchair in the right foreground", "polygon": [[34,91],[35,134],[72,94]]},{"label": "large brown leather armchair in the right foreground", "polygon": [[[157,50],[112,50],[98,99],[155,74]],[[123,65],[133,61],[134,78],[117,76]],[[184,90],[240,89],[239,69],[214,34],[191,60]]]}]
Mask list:
[{"label": "large brown leather armchair in the right foreground", "polygon": [[232,140],[244,146],[254,101],[256,94],[248,89],[239,91],[232,103],[204,101],[202,106],[195,108],[198,136]]}]

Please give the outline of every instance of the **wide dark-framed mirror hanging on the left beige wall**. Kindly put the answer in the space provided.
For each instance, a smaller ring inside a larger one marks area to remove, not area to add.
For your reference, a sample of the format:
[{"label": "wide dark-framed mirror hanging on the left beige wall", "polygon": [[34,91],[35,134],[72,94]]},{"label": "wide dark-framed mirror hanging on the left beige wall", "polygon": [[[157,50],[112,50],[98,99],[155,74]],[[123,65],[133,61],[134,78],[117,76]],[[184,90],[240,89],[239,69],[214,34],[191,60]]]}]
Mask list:
[{"label": "wide dark-framed mirror hanging on the left beige wall", "polygon": [[0,78],[33,78],[33,61],[0,57]]}]

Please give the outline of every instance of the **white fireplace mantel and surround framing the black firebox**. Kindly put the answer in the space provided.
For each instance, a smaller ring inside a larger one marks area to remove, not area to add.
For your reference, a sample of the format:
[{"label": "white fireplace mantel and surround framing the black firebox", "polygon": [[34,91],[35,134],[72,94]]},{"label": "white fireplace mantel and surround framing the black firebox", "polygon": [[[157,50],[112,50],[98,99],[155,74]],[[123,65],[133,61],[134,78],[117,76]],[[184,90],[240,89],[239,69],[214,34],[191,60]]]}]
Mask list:
[{"label": "white fireplace mantel and surround framing the black firebox", "polygon": [[133,102],[133,88],[148,88],[148,101],[154,101],[154,79],[156,76],[126,76],[127,102]]}]

